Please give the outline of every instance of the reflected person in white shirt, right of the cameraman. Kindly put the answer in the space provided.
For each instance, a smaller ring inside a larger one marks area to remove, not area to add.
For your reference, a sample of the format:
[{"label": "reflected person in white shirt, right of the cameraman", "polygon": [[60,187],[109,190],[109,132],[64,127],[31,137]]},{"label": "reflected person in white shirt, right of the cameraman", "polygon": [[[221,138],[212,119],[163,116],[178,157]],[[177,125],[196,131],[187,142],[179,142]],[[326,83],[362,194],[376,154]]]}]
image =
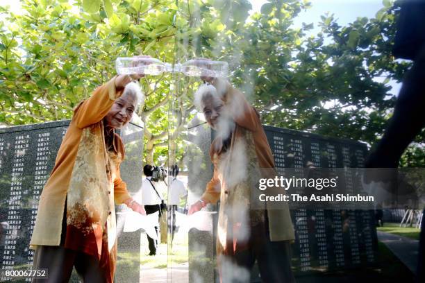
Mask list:
[{"label": "reflected person in white shirt, right of the cameraman", "polygon": [[181,180],[177,179],[178,175],[178,166],[174,164],[172,166],[172,178],[170,180],[171,194],[169,195],[169,205],[168,205],[168,223],[172,223],[172,241],[174,239],[174,232],[176,231],[176,210],[180,204],[181,198],[188,196],[188,190],[185,188],[185,185]]}]

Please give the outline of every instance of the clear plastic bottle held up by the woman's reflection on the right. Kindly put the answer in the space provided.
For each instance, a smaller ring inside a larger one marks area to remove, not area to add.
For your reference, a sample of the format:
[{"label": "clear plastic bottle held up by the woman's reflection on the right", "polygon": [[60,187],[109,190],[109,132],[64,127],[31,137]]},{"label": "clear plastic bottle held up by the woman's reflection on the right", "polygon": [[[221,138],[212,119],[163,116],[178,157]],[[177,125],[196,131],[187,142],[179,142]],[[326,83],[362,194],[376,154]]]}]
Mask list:
[{"label": "clear plastic bottle held up by the woman's reflection on the right", "polygon": [[192,59],[178,66],[186,76],[206,76],[225,78],[228,74],[228,64],[224,61]]}]

